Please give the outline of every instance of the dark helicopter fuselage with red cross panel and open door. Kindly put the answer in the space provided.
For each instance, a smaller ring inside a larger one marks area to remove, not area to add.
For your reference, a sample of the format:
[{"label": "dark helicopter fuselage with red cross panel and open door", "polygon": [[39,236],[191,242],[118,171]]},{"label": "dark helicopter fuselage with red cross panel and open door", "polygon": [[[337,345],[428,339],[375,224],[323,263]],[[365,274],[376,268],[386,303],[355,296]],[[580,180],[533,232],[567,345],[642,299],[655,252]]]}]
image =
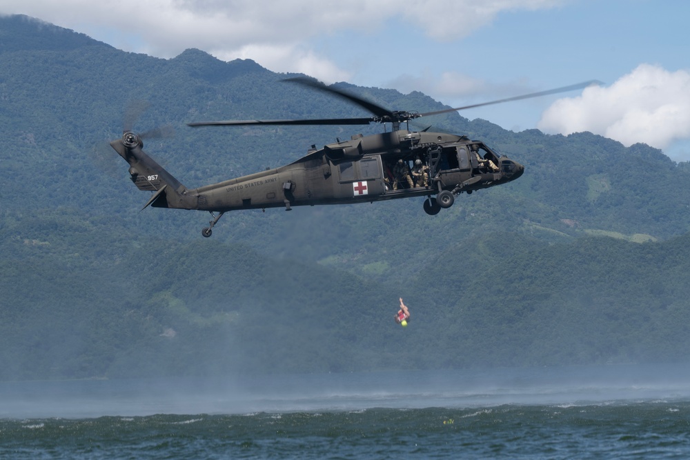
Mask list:
[{"label": "dark helicopter fuselage with red cross panel and open door", "polygon": [[[483,168],[471,146],[483,152],[481,160],[491,161],[495,170]],[[428,184],[393,190],[395,163],[402,160],[410,170],[417,159],[427,168]],[[312,150],[289,165],[186,190],[177,203],[167,199],[152,206],[212,212],[289,210],[292,206],[431,196],[442,190],[457,194],[517,179],[523,170],[519,163],[464,136],[399,130],[353,136],[349,141]]]}]

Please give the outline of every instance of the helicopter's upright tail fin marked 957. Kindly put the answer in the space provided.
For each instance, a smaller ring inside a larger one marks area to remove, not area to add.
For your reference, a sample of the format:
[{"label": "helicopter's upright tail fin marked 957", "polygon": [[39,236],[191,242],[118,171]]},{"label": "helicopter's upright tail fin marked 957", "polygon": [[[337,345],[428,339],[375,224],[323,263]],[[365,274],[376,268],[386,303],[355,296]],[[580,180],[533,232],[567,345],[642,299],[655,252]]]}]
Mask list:
[{"label": "helicopter's upright tail fin marked 957", "polygon": [[[141,139],[133,132],[125,132],[121,139],[110,143],[115,152],[129,163],[132,182],[139,190],[156,192],[146,203],[154,208],[188,208],[185,206],[186,187],[172,177],[141,148]],[[144,206],[144,208],[146,208]]]}]

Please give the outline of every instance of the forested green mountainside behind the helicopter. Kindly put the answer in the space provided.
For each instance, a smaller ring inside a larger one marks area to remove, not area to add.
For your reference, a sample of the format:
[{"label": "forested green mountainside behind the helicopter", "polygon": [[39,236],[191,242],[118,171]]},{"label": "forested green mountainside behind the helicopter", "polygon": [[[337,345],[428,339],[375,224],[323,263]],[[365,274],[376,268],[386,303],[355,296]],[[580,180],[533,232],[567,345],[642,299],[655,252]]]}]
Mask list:
[{"label": "forested green mountainside behind the helicopter", "polygon": [[[199,50],[156,59],[26,17],[0,17],[0,59],[0,379],[678,361],[690,351],[690,167],[660,150],[453,113],[434,128],[486,141],[525,174],[435,217],[422,199],[233,212],[202,239],[208,214],[139,212],[150,195],[108,146],[128,107],[149,103],[136,130],[172,126],[145,148],[190,187],[355,132],[188,121],[367,114],[253,61]],[[444,107],[341,85],[389,108]],[[392,320],[400,296],[413,310],[405,330]]]}]

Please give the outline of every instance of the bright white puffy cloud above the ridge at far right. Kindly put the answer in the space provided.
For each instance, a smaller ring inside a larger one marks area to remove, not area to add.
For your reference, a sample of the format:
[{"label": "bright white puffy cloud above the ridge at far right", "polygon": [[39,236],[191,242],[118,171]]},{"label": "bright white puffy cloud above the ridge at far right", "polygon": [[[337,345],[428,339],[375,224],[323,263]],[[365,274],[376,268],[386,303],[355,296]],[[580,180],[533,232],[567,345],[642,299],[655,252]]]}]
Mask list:
[{"label": "bright white puffy cloud above the ridge at far right", "polygon": [[690,137],[690,72],[641,64],[610,87],[555,101],[537,126],[551,134],[590,131],[625,146],[666,149]]}]

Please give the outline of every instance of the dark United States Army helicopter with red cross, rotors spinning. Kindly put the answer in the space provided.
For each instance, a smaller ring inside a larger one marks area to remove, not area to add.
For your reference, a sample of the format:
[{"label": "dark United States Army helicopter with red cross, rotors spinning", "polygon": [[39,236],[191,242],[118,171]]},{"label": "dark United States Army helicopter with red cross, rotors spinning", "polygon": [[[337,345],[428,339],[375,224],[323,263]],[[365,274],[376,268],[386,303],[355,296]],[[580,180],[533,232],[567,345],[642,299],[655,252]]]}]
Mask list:
[{"label": "dark United States Army helicopter with red cross, rotors spinning", "polygon": [[[350,119],[293,119],[201,121],[189,126],[246,125],[369,125],[391,123],[392,129],[380,134],[330,143],[286,166],[229,179],[199,188],[186,188],[142,148],[144,143],[132,130],[110,146],[129,163],[130,179],[139,190],[155,192],[144,208],[204,210],[211,214],[209,226],[201,230],[210,237],[213,227],[228,211],[315,206],[326,204],[371,203],[389,199],[426,197],[424,211],[435,215],[453,206],[455,196],[498,186],[522,176],[524,166],[498,154],[482,141],[427,130],[410,131],[409,121],[420,117],[464,110],[489,104],[581,89],[595,81],[522,96],[449,108],[435,112],[391,111],[354,94],[326,86],[314,79],[297,77],[288,81],[328,92],[365,108],[373,117]],[[406,123],[407,129],[401,129]],[[385,126],[385,124],[384,124]],[[395,174],[394,174],[395,171]],[[411,172],[413,174],[411,174]],[[415,174],[415,172],[421,172]],[[412,180],[415,175],[415,180]],[[142,208],[143,209],[143,208]]]}]

